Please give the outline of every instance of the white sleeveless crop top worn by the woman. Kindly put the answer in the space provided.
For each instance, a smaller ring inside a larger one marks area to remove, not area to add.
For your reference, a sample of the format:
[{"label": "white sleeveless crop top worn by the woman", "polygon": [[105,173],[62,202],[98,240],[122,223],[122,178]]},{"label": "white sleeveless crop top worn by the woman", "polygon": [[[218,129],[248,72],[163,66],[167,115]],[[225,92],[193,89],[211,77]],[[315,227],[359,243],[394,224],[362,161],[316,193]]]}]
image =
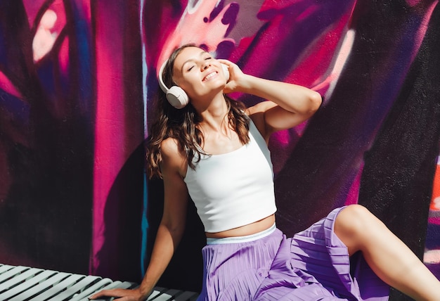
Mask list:
[{"label": "white sleeveless crop top worn by the woman", "polygon": [[276,212],[271,153],[250,120],[250,141],[230,153],[202,155],[184,179],[205,232],[257,222]]}]

